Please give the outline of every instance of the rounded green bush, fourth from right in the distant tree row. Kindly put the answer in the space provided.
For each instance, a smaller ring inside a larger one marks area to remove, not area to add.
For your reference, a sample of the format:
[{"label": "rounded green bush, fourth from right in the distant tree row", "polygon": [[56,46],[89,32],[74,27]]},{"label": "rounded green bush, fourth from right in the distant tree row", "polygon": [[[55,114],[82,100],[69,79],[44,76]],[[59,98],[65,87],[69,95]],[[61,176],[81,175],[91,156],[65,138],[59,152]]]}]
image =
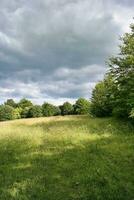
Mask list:
[{"label": "rounded green bush, fourth from right in the distant tree row", "polygon": [[42,107],[38,105],[30,107],[28,117],[42,117]]}]

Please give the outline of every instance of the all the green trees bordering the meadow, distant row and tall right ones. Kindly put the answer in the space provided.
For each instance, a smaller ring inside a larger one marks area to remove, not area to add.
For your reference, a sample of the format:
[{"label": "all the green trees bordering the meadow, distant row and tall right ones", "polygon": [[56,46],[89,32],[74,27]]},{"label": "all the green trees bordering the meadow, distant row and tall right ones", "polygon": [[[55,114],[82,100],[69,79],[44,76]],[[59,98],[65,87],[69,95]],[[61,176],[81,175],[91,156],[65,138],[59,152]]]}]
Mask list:
[{"label": "all the green trees bordering the meadow, distant row and tall right ones", "polygon": [[119,55],[109,59],[109,71],[104,80],[96,84],[91,102],[79,98],[74,105],[65,102],[54,106],[45,102],[39,106],[27,99],[21,99],[19,103],[8,99],[0,106],[0,121],[71,114],[134,120],[134,24],[130,28],[131,31],[120,38]]}]

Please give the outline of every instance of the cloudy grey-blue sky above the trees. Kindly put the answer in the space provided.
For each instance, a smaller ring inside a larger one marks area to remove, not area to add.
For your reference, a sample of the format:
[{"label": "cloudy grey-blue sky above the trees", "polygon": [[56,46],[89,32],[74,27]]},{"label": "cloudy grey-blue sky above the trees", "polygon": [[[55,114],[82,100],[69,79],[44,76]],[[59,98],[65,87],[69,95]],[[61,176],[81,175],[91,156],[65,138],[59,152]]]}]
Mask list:
[{"label": "cloudy grey-blue sky above the trees", "polygon": [[90,99],[133,22],[133,0],[0,0],[0,103]]}]

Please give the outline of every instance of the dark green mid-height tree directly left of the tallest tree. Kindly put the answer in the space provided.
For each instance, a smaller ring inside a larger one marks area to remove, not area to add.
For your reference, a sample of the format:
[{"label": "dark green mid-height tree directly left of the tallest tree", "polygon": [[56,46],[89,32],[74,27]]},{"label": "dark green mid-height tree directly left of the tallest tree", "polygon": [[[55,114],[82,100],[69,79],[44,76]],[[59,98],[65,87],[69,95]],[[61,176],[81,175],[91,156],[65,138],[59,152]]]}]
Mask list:
[{"label": "dark green mid-height tree directly left of the tallest tree", "polygon": [[91,113],[97,117],[110,116],[113,109],[113,79],[110,75],[99,82],[92,92]]}]

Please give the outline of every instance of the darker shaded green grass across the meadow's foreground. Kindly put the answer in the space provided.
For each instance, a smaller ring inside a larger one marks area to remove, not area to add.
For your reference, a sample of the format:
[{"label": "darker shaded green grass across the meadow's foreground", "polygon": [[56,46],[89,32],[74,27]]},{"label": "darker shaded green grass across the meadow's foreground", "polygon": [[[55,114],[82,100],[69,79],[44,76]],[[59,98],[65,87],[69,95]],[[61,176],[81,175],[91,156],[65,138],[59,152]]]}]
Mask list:
[{"label": "darker shaded green grass across the meadow's foreground", "polygon": [[132,200],[134,137],[38,147],[0,142],[0,200]]}]

